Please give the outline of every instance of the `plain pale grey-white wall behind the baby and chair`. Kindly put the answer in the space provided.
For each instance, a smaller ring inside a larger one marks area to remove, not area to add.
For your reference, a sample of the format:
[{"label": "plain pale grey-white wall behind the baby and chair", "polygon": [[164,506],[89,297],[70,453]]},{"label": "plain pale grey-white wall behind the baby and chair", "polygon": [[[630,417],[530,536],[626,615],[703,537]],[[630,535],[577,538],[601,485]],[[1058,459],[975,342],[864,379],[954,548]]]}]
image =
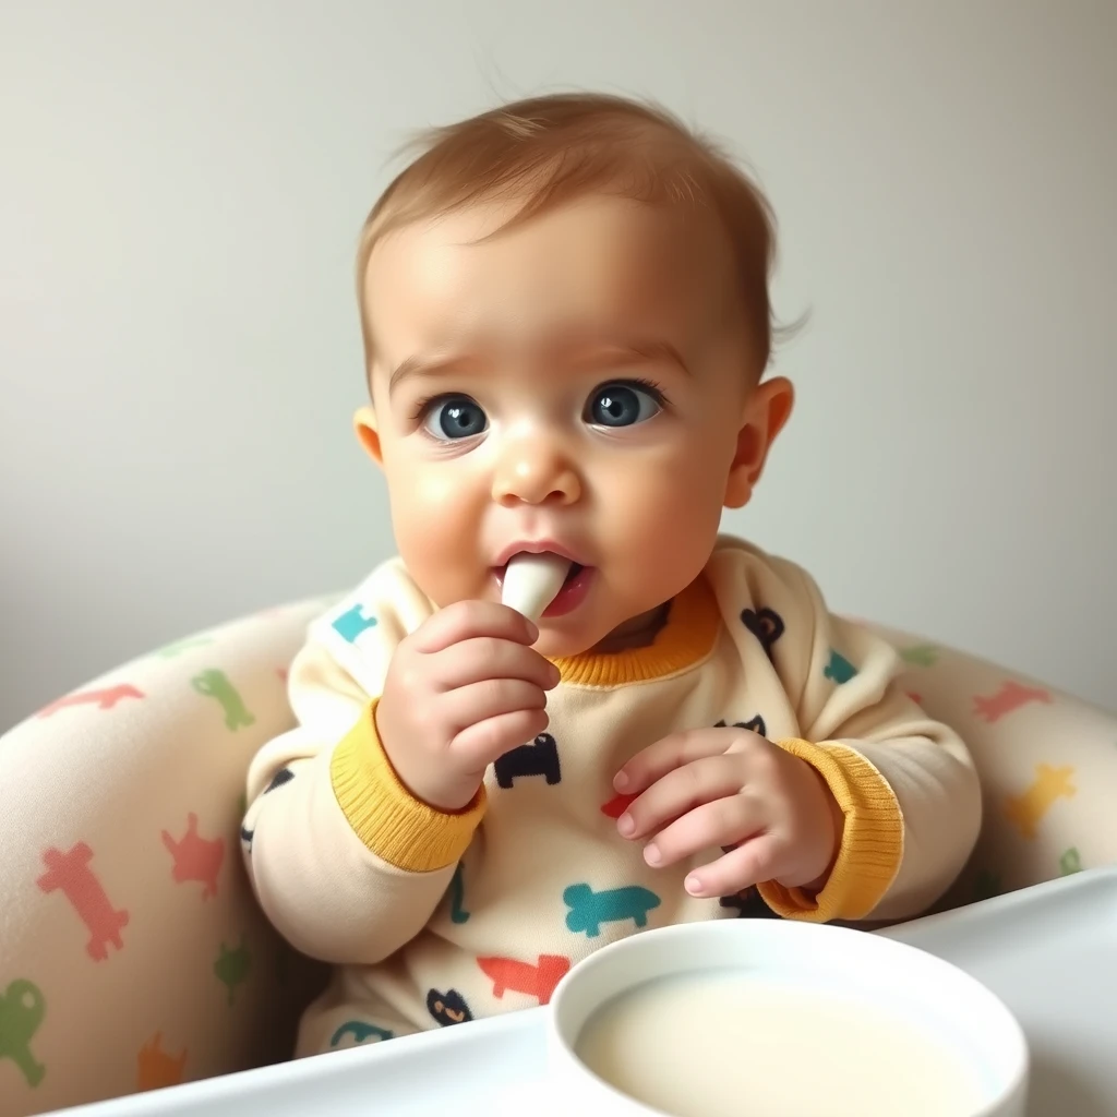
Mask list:
[{"label": "plain pale grey-white wall behind the baby and chair", "polygon": [[352,256],[412,128],[570,87],[727,137],[799,411],[727,526],[1117,706],[1117,4],[0,7],[0,729],[391,553]]}]

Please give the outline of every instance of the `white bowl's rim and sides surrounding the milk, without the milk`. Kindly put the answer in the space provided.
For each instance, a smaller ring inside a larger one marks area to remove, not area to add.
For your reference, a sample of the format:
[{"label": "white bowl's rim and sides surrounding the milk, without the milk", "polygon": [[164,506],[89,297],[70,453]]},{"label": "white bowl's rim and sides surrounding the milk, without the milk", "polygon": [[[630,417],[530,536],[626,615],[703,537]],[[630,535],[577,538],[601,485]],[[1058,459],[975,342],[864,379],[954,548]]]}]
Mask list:
[{"label": "white bowl's rim and sides surrounding the milk, without the milk", "polygon": [[[585,1117],[670,1113],[651,1108],[652,1099],[648,1099],[649,1104],[638,1101],[598,1077],[579,1058],[576,1044],[594,1013],[614,997],[657,977],[704,972],[710,976],[709,971],[716,970],[735,971],[735,981],[755,980],[767,987],[789,987],[795,997],[809,994],[856,1000],[878,1018],[884,1013],[895,1020],[895,1034],[901,1038],[908,1034],[905,1028],[922,1031],[946,1048],[947,1056],[953,1057],[951,1062],[957,1060],[960,1069],[981,1083],[980,1102],[938,1117],[1024,1115],[1030,1072],[1027,1040],[1016,1019],[984,985],[956,966],[905,943],[863,930],[774,919],[717,919],[642,932],[604,946],[575,965],[555,989],[546,1021],[550,1068],[561,1094],[561,1111],[577,1111]],[[662,1027],[670,1035],[672,1022],[663,1020]],[[793,1052],[790,1067],[793,1073],[810,1080],[815,1060],[803,1049],[803,1035],[795,1032],[787,1028],[786,1050]],[[783,1039],[771,1031],[768,1035],[773,1041]],[[676,1054],[675,1062],[681,1058]],[[657,1066],[669,1067],[670,1060],[668,1042]],[[888,1069],[882,1067],[881,1076]],[[686,1075],[687,1066],[670,1071]],[[733,1066],[725,1067],[725,1076],[739,1082],[737,1111],[747,1117],[764,1117],[748,1105],[748,1081],[757,1072],[777,1075],[780,1068],[771,1063],[750,1067],[747,1050]],[[810,1117],[825,1117],[820,1100],[825,1083],[820,1078],[815,1070],[812,1088],[818,1091],[817,1105],[812,1104]],[[892,1088],[896,1096],[890,1111],[903,1117],[908,1110],[899,1089]],[[572,1110],[571,1106],[580,1108]]]}]

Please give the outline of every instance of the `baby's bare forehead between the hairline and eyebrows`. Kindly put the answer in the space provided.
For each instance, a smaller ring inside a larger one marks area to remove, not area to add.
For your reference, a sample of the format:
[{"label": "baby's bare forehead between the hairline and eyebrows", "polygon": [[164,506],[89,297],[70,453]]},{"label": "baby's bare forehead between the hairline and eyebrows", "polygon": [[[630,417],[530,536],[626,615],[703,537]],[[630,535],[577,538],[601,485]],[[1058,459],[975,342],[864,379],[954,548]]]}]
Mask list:
[{"label": "baby's bare forehead between the hairline and eyebrows", "polygon": [[693,347],[728,297],[716,236],[609,195],[519,222],[485,207],[414,222],[378,245],[365,286],[381,370],[416,353],[662,356]]}]

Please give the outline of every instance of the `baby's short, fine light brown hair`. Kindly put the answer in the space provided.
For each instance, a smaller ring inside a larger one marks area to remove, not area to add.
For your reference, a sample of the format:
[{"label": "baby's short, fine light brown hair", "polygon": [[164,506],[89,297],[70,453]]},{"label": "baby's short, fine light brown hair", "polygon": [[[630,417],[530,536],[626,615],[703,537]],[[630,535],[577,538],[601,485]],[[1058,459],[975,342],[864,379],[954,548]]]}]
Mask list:
[{"label": "baby's short, fine light brown hair", "polygon": [[555,94],[432,128],[409,147],[421,153],[381,194],[361,232],[356,279],[366,373],[373,343],[364,286],[383,236],[474,203],[522,202],[503,227],[509,228],[594,191],[716,214],[733,251],[757,378],[767,365],[776,331],[768,298],[772,209],[716,143],[666,109],[607,94]]}]

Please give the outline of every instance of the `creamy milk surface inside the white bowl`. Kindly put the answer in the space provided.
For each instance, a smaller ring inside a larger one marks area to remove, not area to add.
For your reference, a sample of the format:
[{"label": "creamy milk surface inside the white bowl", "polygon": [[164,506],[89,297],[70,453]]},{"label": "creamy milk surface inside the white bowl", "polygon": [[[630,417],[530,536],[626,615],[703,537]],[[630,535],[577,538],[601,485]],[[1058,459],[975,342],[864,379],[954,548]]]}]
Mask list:
[{"label": "creamy milk surface inside the white bowl", "polygon": [[620,993],[574,1050],[622,1094],[674,1117],[896,1117],[899,1096],[904,1117],[942,1117],[978,1113],[983,1097],[973,1067],[918,1025],[736,970]]}]

